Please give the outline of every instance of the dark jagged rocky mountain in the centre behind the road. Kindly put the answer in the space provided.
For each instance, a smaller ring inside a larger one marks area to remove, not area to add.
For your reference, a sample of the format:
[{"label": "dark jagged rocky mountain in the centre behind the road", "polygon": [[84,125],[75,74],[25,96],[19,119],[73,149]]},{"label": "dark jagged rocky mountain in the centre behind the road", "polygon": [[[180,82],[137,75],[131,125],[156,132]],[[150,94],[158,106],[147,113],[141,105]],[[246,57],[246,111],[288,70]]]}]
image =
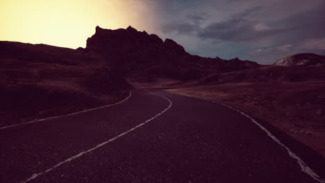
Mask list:
[{"label": "dark jagged rocky mountain in the centre behind the road", "polygon": [[210,73],[238,71],[259,67],[256,62],[238,58],[203,58],[190,55],[173,40],[161,40],[129,26],[126,29],[103,29],[88,38],[84,51],[100,55],[129,78],[167,77],[180,80],[197,79]]}]

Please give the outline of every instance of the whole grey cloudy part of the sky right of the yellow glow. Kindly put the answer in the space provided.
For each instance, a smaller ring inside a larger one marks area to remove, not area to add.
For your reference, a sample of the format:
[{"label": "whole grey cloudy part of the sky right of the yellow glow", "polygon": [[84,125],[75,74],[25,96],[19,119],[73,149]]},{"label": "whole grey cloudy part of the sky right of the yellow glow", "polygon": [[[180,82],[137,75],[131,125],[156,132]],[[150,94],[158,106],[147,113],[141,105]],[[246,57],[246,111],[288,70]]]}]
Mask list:
[{"label": "whole grey cloudy part of the sky right of the yellow glow", "polygon": [[163,35],[198,49],[192,52],[263,63],[300,51],[324,53],[324,0],[197,2],[162,3],[171,5],[162,14]]}]

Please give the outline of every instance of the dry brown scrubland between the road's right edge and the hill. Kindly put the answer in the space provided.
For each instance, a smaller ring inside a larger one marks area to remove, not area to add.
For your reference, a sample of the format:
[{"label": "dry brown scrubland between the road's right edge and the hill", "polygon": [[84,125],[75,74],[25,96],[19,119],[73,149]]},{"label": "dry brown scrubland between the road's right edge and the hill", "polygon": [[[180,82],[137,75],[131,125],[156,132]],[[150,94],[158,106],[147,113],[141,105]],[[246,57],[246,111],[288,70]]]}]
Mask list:
[{"label": "dry brown scrubland between the road's right edge and the hill", "polygon": [[235,107],[274,125],[325,157],[325,82],[178,85],[166,91]]}]

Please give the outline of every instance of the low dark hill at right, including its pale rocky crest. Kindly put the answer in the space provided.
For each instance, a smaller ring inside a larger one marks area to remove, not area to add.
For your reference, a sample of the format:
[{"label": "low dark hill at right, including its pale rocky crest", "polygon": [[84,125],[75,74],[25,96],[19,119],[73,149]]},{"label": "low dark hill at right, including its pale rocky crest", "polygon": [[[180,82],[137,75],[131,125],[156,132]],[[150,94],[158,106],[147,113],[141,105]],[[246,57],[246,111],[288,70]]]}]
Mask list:
[{"label": "low dark hill at right, including its pale rocky crest", "polygon": [[219,85],[240,82],[324,82],[324,73],[324,55],[299,53],[282,58],[272,65],[224,73],[216,72],[201,78],[199,83]]}]

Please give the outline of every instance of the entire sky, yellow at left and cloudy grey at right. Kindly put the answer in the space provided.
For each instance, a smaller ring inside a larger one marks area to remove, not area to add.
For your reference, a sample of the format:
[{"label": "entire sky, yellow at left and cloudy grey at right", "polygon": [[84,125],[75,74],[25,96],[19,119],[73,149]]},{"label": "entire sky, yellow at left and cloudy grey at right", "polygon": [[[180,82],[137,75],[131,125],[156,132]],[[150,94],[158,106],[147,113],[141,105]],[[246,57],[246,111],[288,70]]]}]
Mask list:
[{"label": "entire sky, yellow at left and cloudy grey at right", "polygon": [[0,40],[85,47],[95,27],[131,25],[194,55],[271,64],[325,55],[324,0],[0,0]]}]

